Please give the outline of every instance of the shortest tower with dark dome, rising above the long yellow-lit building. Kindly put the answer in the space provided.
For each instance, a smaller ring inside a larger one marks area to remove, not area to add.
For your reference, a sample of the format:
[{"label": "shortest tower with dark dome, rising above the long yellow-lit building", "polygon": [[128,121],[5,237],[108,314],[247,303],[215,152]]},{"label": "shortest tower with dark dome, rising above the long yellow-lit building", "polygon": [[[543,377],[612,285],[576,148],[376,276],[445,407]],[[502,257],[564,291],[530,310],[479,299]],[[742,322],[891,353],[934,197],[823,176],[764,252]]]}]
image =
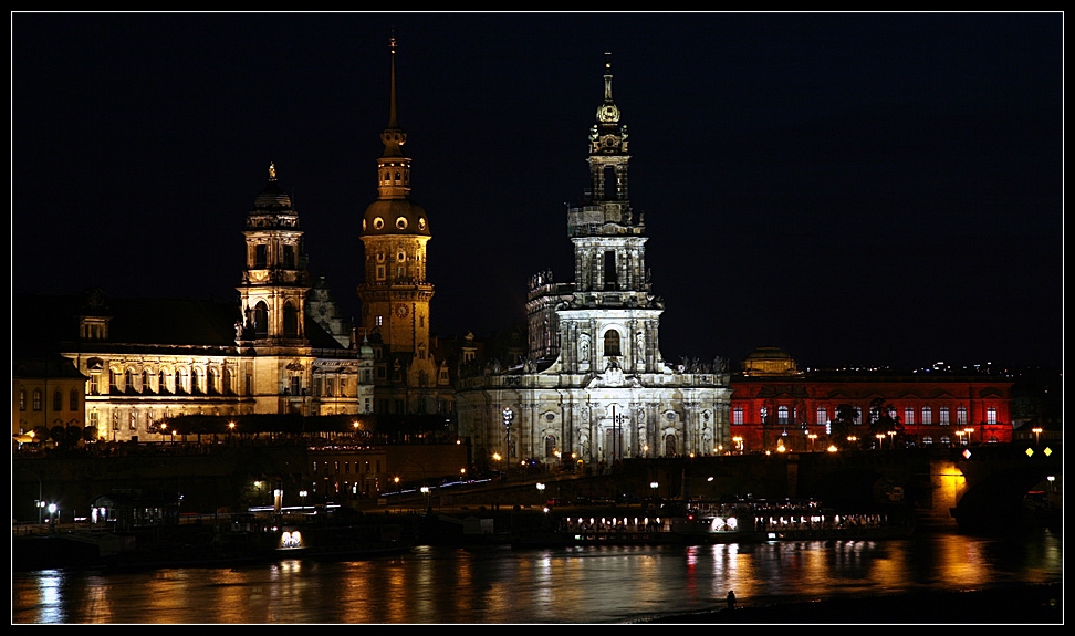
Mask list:
[{"label": "shortest tower with dark dome, rising above the long yellow-lit building", "polygon": [[247,215],[247,258],[238,286],[242,319],[236,341],[253,344],[305,344],[303,307],[306,284],[302,230],[291,197],[276,183],[269,165],[269,183]]}]

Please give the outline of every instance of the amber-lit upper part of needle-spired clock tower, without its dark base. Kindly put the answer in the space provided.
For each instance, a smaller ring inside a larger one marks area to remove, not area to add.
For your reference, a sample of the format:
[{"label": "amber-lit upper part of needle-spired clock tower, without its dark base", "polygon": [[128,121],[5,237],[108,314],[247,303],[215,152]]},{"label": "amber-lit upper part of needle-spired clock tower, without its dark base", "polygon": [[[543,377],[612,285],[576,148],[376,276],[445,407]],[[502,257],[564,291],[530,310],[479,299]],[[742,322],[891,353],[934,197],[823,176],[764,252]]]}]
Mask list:
[{"label": "amber-lit upper part of needle-spired clock tower, without its dark base", "polygon": [[[362,326],[377,332],[392,351],[425,355],[429,351],[429,301],[426,242],[431,238],[426,210],[410,198],[407,133],[396,118],[396,39],[390,40],[390,97],[385,146],[377,159],[377,200],[362,219],[365,279],[358,285]],[[420,352],[420,353],[419,353]]]}]

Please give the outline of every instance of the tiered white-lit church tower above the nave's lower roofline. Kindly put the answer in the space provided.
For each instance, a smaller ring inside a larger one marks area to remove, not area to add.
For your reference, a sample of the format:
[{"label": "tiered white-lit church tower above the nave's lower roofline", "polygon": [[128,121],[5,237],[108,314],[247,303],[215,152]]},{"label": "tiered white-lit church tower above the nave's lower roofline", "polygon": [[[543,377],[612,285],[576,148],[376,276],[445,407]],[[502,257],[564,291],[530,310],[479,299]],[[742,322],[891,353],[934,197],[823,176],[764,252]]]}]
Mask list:
[{"label": "tiered white-lit church tower above the nave's lower roofline", "polygon": [[575,281],[555,284],[551,274],[531,281],[531,354],[559,355],[560,371],[566,373],[660,373],[657,335],[664,306],[650,293],[646,226],[628,197],[627,125],[613,100],[608,53],[604,80],[604,101],[589,129],[589,188],[581,205],[567,210]]}]

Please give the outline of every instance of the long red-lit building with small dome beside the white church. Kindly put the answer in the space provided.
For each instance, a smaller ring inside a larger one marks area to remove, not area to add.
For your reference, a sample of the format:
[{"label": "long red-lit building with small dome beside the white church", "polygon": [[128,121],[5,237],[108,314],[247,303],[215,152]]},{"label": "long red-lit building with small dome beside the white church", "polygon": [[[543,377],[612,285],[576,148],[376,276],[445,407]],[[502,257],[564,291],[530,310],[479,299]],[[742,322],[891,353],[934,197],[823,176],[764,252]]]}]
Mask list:
[{"label": "long red-lit building with small dome beside the white church", "polygon": [[761,347],[731,376],[732,450],[1008,444],[1012,385],[948,371],[802,372],[786,352]]}]

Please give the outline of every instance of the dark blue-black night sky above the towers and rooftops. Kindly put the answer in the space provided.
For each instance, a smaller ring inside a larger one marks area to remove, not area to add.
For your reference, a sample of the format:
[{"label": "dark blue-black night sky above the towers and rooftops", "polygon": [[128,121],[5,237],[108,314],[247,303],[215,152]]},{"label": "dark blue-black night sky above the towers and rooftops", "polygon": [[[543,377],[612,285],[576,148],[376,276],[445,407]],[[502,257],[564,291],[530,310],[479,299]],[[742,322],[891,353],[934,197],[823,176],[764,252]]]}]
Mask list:
[{"label": "dark blue-black night sky above the towers and rooftops", "polygon": [[436,333],[524,325],[533,273],[574,278],[565,204],[609,51],[667,361],[1062,363],[1063,13],[13,13],[11,33],[14,292],[238,298],[272,161],[357,317],[394,33]]}]

